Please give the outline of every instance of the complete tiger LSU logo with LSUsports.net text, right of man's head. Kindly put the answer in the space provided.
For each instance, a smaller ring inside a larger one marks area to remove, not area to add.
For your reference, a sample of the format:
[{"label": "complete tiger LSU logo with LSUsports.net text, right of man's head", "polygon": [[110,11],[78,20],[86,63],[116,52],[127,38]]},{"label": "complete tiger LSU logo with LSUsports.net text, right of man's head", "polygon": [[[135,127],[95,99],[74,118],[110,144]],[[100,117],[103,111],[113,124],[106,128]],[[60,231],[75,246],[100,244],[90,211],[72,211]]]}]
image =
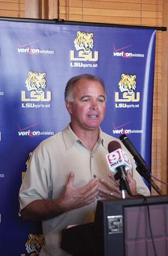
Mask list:
[{"label": "complete tiger LSU logo with LSUsports.net text, right of man's head", "polygon": [[124,103],[137,103],[140,100],[140,92],[136,91],[136,75],[125,75],[122,74],[122,78],[119,81],[118,88],[120,92],[123,92],[123,94],[120,94],[119,92],[115,92],[115,102],[122,102],[120,104],[115,104],[116,108],[139,108],[139,104],[137,105],[127,105]]}]

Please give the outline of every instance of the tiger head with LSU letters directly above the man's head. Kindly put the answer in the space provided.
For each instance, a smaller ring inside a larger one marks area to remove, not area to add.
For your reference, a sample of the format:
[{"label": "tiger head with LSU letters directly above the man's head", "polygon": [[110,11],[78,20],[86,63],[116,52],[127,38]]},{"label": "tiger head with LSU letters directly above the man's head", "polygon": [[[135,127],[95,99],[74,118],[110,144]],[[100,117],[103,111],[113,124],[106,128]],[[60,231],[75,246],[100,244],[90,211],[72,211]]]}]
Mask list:
[{"label": "tiger head with LSU letters directly above the man's head", "polygon": [[75,54],[74,50],[71,50],[71,60],[89,62],[96,62],[98,60],[98,52],[92,52],[92,49],[94,48],[93,36],[94,33],[77,31],[76,38],[74,39],[73,43],[74,47],[79,52]]}]

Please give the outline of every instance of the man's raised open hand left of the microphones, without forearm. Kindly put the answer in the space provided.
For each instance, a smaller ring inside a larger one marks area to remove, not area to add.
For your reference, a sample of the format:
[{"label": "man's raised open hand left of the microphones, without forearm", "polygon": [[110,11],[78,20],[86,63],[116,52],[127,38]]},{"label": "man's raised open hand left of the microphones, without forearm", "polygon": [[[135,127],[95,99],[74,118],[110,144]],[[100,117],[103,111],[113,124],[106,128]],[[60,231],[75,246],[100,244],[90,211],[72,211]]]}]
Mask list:
[{"label": "man's raised open hand left of the microphones, without forearm", "polygon": [[86,206],[87,204],[94,202],[95,197],[99,194],[99,181],[97,178],[92,179],[90,183],[82,188],[73,187],[74,178],[74,173],[71,171],[71,173],[69,173],[66,189],[60,199],[64,211],[70,211],[75,208]]}]

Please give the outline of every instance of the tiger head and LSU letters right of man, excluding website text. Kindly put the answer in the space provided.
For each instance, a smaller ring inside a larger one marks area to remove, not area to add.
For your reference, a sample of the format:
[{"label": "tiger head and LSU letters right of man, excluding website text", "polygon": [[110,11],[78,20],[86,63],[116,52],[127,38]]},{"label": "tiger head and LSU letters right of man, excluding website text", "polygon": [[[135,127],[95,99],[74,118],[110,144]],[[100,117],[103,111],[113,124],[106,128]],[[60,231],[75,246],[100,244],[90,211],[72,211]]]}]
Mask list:
[{"label": "tiger head and LSU letters right of man, excluding website text", "polygon": [[115,92],[115,101],[121,101],[121,102],[137,102],[140,99],[140,93],[137,92],[135,94],[136,90],[136,75],[125,75],[122,74],[122,78],[119,81],[119,90],[120,92],[123,92],[123,98],[119,99],[119,92]]}]

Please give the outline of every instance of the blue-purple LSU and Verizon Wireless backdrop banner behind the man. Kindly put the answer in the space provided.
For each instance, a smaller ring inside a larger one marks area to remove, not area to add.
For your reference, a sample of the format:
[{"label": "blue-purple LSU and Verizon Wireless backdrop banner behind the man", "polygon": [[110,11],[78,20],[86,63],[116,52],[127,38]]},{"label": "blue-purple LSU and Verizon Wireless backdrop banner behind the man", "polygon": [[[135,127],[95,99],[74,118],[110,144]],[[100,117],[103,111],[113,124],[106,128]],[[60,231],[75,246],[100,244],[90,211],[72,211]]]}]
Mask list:
[{"label": "blue-purple LSU and Verizon Wireless backdrop banner behind the man", "polygon": [[69,78],[81,73],[102,78],[108,95],[102,130],[130,136],[151,164],[156,31],[54,22],[0,21],[0,249],[5,256],[37,256],[44,244],[41,224],[18,214],[18,191],[31,152],[70,121],[64,106]]}]

